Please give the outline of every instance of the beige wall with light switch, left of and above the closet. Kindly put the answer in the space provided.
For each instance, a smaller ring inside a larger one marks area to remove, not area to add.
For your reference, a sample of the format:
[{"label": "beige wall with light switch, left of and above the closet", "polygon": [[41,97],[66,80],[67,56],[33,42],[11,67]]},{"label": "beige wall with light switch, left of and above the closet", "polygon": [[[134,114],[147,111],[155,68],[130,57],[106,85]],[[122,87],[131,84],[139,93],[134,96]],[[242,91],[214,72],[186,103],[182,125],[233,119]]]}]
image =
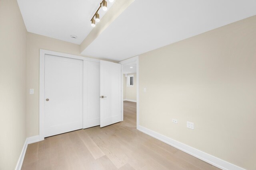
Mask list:
[{"label": "beige wall with light switch, left of and above the closet", "polygon": [[46,49],[62,53],[79,55],[80,46],[65,41],[37,35],[27,34],[27,86],[34,88],[34,94],[27,94],[27,137],[39,135],[39,50]]}]

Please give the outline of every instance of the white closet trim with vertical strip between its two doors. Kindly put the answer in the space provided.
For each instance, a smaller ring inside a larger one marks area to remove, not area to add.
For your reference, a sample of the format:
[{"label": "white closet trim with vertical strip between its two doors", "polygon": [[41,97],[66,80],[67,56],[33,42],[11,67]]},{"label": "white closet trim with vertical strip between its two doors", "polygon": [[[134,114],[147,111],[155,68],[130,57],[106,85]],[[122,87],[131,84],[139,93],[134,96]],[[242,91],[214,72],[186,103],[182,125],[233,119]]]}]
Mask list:
[{"label": "white closet trim with vertical strip between its two doors", "polygon": [[[55,55],[58,57],[66,57],[70,59],[78,59],[83,61],[83,117],[86,113],[87,103],[86,101],[86,62],[85,61],[92,61],[100,63],[99,59],[92,59],[88,57],[82,57],[78,55],[71,55],[66,53],[59,53],[56,51],[49,51],[40,49],[40,60],[39,60],[39,141],[44,140],[44,61],[45,61],[45,55]],[[84,121],[83,121],[84,123]]]}]

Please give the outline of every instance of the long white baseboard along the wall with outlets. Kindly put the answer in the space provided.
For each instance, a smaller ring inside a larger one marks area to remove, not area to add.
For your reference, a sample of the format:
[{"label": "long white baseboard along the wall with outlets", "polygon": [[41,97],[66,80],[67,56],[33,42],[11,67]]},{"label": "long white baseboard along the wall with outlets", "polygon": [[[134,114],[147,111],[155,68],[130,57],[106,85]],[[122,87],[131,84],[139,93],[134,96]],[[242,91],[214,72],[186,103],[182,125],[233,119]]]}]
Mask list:
[{"label": "long white baseboard along the wall with outlets", "polygon": [[222,170],[244,170],[243,168],[236,166],[234,164],[231,164],[229,162],[226,162],[225,160],[222,160],[220,158],[216,158],[215,156],[212,156],[210,154],[207,154],[205,152],[202,152],[201,150],[194,149],[188,145],[185,145],[183,143],[180,143],[178,141],[175,141],[169,137],[166,137],[164,135],[161,135],[159,133],[156,133],[150,129],[147,129],[142,126],[138,126],[137,129],[139,131],[142,131],[143,133],[146,133],[164,143],[167,143],[168,145],[171,145],[179,150],[182,150],[192,156],[195,156],[196,158],[199,158],[205,162],[208,162],[209,164],[212,164]]}]

